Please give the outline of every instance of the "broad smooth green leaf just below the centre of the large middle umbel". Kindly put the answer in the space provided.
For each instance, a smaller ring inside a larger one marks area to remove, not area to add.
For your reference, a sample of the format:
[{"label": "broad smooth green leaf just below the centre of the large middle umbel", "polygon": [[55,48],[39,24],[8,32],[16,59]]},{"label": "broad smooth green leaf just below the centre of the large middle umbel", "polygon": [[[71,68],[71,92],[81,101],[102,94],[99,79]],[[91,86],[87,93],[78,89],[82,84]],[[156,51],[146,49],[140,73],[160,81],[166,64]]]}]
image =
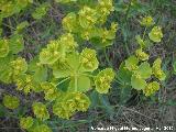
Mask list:
[{"label": "broad smooth green leaf just below the centre of the large middle umbel", "polygon": [[69,82],[69,91],[86,92],[90,89],[90,79],[86,76],[75,77]]}]

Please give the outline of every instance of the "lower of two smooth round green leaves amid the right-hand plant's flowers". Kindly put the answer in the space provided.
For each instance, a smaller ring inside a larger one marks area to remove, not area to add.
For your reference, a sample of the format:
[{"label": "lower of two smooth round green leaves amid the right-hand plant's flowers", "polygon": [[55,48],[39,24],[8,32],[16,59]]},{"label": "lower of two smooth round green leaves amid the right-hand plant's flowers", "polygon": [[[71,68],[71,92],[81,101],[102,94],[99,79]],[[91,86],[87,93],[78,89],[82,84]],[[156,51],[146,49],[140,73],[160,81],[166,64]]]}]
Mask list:
[{"label": "lower of two smooth round green leaves amid the right-hand plant's flowers", "polygon": [[142,78],[138,78],[136,76],[131,77],[131,86],[136,90],[142,90],[146,86],[146,81]]}]

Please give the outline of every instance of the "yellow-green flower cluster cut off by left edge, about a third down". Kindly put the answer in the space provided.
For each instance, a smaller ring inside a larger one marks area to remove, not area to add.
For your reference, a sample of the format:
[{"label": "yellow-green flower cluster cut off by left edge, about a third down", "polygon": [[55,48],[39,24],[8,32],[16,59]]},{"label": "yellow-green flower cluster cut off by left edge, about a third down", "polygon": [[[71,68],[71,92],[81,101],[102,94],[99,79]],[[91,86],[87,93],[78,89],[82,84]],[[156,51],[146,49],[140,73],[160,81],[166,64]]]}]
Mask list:
[{"label": "yellow-green flower cluster cut off by left edge, about a third down", "polygon": [[6,38],[0,40],[0,57],[6,57],[9,53],[9,42]]}]

